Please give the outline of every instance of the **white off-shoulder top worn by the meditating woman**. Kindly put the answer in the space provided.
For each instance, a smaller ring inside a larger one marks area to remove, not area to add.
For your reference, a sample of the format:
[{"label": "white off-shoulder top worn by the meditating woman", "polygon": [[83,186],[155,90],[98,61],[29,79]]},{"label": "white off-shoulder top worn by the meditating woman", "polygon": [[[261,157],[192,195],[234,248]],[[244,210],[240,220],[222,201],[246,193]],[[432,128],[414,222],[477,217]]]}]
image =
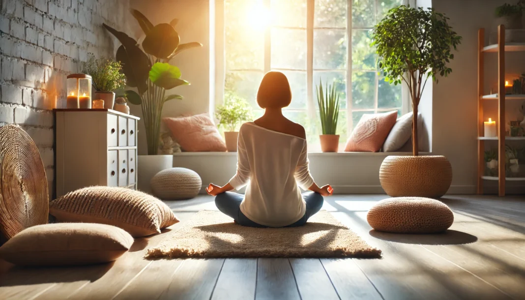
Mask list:
[{"label": "white off-shoulder top worn by the meditating woman", "polygon": [[306,204],[298,186],[307,190],[314,182],[306,140],[247,122],[237,144],[237,172],[229,183],[236,190],[247,185],[241,212],[269,227],[301,219]]}]

